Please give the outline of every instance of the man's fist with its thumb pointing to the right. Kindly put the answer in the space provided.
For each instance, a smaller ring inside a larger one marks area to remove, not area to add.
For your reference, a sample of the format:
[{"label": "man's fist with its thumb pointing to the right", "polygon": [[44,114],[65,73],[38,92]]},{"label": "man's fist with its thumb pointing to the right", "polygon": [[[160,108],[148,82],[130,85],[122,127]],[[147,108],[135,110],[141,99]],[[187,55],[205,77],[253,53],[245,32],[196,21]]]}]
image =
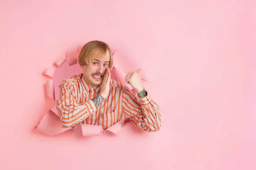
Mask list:
[{"label": "man's fist with its thumb pointing to the right", "polygon": [[127,82],[128,84],[131,84],[131,87],[137,93],[140,93],[144,89],[141,83],[141,77],[140,77],[141,70],[142,69],[140,68],[139,70],[130,72],[125,76],[125,82]]}]

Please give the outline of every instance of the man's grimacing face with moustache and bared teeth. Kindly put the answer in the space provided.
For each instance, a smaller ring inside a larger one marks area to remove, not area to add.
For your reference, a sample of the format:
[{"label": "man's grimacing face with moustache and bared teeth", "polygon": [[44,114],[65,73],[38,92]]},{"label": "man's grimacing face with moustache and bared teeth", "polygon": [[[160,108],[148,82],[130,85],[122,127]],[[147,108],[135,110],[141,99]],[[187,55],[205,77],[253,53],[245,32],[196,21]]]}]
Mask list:
[{"label": "man's grimacing face with moustache and bared teeth", "polygon": [[83,66],[84,80],[92,87],[100,85],[104,77],[105,69],[108,68],[109,61],[110,54],[108,50],[103,56],[99,56],[97,53],[93,54],[89,64]]}]

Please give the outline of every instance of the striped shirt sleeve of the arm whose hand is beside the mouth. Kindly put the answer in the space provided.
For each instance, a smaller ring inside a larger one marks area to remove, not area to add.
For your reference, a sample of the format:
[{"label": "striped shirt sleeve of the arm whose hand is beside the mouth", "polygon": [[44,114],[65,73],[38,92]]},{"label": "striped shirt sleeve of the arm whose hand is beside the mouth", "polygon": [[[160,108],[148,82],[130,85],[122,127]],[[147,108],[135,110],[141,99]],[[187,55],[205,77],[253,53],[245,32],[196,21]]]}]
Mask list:
[{"label": "striped shirt sleeve of the arm whose hand is beside the mouth", "polygon": [[56,108],[60,116],[62,127],[74,127],[89,115],[96,112],[96,107],[92,100],[79,103],[79,90],[72,82],[64,80],[59,86],[60,99],[56,100]]}]

